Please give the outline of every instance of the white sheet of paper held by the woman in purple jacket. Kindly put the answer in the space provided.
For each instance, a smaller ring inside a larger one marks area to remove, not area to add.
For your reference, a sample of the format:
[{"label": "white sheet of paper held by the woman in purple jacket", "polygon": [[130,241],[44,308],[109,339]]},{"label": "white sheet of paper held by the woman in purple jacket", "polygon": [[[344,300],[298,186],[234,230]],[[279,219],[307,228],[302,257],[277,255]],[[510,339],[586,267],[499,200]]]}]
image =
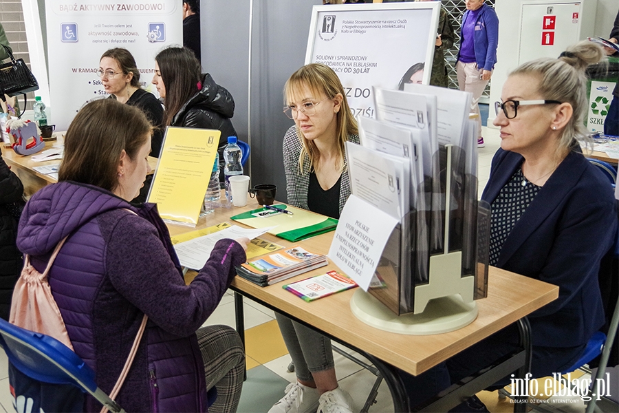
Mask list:
[{"label": "white sheet of paper held by the woman in purple jacket", "polygon": [[178,260],[182,266],[199,271],[202,269],[208,257],[210,257],[211,251],[217,244],[217,241],[224,240],[224,238],[231,238],[235,240],[240,237],[248,237],[250,240],[255,237],[270,231],[273,227],[260,228],[260,229],[245,229],[238,225],[229,226],[226,229],[217,231],[216,233],[204,235],[204,237],[197,237],[193,240],[186,242],[180,242],[174,246]]}]

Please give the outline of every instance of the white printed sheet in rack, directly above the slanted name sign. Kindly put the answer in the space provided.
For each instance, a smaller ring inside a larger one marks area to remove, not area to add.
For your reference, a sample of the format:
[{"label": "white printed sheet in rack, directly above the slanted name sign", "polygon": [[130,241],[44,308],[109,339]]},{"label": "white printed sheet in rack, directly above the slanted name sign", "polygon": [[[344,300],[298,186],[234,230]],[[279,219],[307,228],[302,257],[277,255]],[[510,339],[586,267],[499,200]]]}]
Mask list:
[{"label": "white printed sheet in rack, directly above the slanted name sign", "polygon": [[408,164],[409,160],[401,158],[401,162],[397,162],[385,153],[352,142],[346,142],[346,156],[351,193],[400,220],[402,213],[408,212],[408,198],[404,211],[400,199],[403,194],[398,191],[398,186],[403,182],[402,165]]}]

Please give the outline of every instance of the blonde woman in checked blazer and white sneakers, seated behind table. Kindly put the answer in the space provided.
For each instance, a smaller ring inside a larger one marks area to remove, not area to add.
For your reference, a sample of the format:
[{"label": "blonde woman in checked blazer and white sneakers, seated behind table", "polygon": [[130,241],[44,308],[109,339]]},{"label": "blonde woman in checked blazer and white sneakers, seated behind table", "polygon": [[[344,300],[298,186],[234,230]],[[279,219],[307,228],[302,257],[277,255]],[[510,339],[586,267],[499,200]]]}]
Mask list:
[{"label": "blonde woman in checked blazer and white sneakers, seated behind table", "polygon": [[[283,140],[288,203],[339,218],[350,195],[344,144],[359,143],[340,79],[328,66],[312,63],[290,76],[285,85],[284,113],[294,120]],[[351,398],[338,387],[331,341],[296,321],[276,314],[296,383],[269,410],[341,412],[352,410]]]}]

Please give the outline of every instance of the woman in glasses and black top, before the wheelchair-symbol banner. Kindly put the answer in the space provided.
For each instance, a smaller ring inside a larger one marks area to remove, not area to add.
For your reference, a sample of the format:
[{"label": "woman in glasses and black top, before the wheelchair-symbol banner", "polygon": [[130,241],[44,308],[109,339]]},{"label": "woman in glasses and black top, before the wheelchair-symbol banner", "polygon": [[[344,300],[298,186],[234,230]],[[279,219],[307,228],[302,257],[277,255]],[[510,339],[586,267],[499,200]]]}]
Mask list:
[{"label": "woman in glasses and black top, before the wheelchair-symbol banner", "polygon": [[110,98],[138,107],[144,112],[155,128],[150,155],[159,158],[163,140],[163,107],[155,95],[140,87],[140,71],[131,52],[120,47],[107,50],[101,56],[97,74]]}]

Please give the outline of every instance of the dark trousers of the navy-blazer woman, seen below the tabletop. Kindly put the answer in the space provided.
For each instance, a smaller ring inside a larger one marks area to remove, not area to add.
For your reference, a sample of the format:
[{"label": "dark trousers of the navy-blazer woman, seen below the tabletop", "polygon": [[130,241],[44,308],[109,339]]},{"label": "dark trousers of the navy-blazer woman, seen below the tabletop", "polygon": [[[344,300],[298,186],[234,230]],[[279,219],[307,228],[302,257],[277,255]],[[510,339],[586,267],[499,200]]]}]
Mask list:
[{"label": "dark trousers of the navy-blazer woman, seen below the tabletop", "polygon": [[[501,357],[518,350],[518,341],[517,329],[512,325],[418,376],[400,372],[406,392],[409,394],[411,407],[424,403],[453,383],[479,372]],[[576,363],[584,349],[585,345],[569,348],[534,346],[531,363],[532,377],[546,377],[554,372],[563,372]],[[510,379],[508,375],[496,384],[508,385]]]}]

